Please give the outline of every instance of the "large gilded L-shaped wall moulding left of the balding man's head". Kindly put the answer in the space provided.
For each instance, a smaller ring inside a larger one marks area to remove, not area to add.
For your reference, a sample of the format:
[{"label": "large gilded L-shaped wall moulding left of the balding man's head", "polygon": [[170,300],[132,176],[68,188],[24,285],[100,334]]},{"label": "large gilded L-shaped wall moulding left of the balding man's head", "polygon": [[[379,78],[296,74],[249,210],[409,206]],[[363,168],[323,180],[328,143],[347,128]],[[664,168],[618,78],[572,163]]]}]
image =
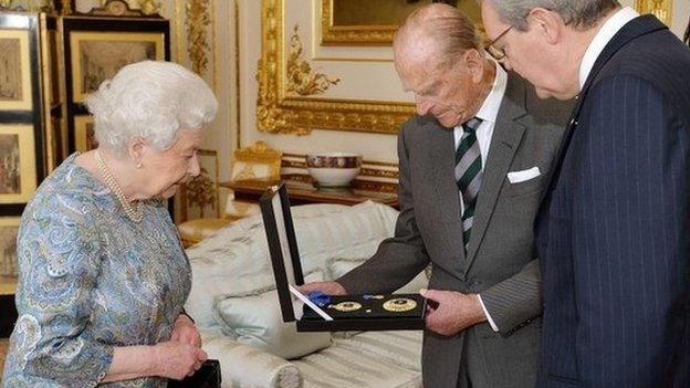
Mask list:
[{"label": "large gilded L-shaped wall moulding left of the balding man's head", "polygon": [[396,134],[415,113],[411,103],[286,95],[283,59],[285,0],[262,0],[262,45],[257,81],[257,126],[271,134],[307,135],[313,128]]}]

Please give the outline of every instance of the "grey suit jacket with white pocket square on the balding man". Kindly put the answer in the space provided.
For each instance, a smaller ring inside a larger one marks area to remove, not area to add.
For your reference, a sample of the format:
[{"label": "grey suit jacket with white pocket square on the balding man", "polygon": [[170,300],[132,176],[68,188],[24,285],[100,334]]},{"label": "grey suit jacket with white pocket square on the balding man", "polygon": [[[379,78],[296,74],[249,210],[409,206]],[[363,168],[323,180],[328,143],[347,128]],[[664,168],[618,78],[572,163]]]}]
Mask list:
[{"label": "grey suit jacket with white pocket square on the balding man", "polygon": [[[431,262],[429,289],[479,293],[500,329],[483,323],[450,337],[426,332],[425,387],[457,387],[461,357],[474,387],[534,386],[542,302],[533,221],[571,107],[539,99],[524,80],[509,74],[467,255],[452,129],[431,116],[415,116],[400,130],[395,237],[338,282],[348,293],[390,292]],[[541,176],[509,181],[509,171],[532,167]]]}]

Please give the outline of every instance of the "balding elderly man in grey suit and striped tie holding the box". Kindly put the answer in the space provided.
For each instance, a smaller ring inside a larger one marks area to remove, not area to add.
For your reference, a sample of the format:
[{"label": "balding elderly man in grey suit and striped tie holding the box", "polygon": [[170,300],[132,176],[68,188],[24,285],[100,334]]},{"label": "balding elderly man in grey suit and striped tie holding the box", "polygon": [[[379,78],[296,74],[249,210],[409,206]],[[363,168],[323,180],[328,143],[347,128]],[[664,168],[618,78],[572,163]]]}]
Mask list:
[{"label": "balding elderly man in grey suit and striped tie holding the box", "polygon": [[532,387],[542,313],[532,224],[569,104],[540,101],[484,55],[472,22],[430,4],[396,34],[417,115],[398,136],[395,237],[336,282],[303,292],[394,291],[432,264],[425,387]]}]

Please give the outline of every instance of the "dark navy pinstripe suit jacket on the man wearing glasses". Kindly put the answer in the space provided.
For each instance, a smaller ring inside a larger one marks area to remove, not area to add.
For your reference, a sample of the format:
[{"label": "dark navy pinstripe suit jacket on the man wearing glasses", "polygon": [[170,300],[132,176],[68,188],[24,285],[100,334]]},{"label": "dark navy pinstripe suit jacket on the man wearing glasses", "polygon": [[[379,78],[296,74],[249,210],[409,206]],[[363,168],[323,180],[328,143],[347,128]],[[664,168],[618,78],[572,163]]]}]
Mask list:
[{"label": "dark navy pinstripe suit jacket on the man wearing glasses", "polygon": [[536,223],[539,387],[690,387],[690,51],[651,15],[589,74]]}]

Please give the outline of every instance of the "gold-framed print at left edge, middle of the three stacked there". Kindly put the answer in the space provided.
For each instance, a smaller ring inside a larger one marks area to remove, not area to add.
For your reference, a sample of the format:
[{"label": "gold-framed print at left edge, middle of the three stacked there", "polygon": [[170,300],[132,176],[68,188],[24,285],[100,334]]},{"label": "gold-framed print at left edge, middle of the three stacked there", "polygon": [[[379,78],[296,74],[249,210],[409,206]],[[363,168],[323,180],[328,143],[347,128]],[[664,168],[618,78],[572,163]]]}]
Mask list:
[{"label": "gold-framed print at left edge, middle of the three stacked there", "polygon": [[31,125],[0,125],[0,203],[25,203],[36,189]]}]

